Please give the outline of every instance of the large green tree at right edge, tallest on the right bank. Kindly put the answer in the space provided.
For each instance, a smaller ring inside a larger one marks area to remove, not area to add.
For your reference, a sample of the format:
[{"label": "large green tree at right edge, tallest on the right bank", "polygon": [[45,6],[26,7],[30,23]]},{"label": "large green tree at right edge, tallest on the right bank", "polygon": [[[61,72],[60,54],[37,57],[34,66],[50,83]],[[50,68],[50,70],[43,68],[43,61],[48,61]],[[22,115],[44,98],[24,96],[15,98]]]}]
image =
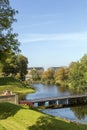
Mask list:
[{"label": "large green tree at right edge, tallest on the right bank", "polygon": [[83,88],[87,86],[87,54],[74,64],[69,73],[70,86]]}]

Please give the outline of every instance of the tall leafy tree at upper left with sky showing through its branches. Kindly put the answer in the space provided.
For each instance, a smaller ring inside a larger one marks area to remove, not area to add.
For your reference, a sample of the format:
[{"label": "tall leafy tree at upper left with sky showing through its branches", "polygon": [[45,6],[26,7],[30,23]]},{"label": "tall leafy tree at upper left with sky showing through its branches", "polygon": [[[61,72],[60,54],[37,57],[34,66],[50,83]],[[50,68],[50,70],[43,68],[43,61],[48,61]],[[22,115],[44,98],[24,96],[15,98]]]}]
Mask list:
[{"label": "tall leafy tree at upper left with sky showing through its branches", "polygon": [[0,0],[0,61],[3,62],[9,51],[18,52],[17,34],[12,33],[12,24],[18,11],[11,8],[9,0]]}]

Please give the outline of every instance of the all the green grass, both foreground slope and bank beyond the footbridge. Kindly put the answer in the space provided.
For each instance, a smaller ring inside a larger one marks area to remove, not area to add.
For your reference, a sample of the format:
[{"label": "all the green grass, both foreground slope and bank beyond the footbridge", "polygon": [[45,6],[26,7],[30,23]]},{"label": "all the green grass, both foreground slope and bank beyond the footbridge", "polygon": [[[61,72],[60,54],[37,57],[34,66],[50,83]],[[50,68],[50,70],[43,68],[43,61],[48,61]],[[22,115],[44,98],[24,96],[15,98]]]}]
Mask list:
[{"label": "all the green grass, both foreground slope and bank beyond the footbridge", "polygon": [[[0,92],[11,90],[20,94],[34,92],[14,78],[0,78]],[[87,130],[87,125],[49,116],[26,106],[0,103],[0,130]]]}]

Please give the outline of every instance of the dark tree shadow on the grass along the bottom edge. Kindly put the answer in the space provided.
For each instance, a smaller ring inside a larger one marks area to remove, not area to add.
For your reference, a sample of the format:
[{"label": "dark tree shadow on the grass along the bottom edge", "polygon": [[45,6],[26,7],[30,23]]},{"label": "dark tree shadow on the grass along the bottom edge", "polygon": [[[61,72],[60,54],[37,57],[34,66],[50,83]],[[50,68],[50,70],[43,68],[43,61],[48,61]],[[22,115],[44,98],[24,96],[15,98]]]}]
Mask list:
[{"label": "dark tree shadow on the grass along the bottom edge", "polygon": [[57,120],[51,116],[42,116],[37,120],[36,124],[29,126],[28,130],[86,130],[86,128],[86,125]]}]

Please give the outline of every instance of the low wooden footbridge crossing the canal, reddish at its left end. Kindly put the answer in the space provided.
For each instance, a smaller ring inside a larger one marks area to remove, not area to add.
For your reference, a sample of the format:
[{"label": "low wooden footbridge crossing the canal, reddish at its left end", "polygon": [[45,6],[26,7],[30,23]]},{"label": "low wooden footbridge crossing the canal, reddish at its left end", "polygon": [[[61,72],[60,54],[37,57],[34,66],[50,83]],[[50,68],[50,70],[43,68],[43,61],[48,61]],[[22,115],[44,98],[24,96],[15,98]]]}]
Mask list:
[{"label": "low wooden footbridge crossing the canal, reddish at its left end", "polygon": [[76,104],[86,104],[87,103],[87,94],[84,95],[70,95],[63,97],[47,97],[40,99],[29,99],[29,100],[20,100],[19,104],[26,104],[32,107],[40,107],[40,106],[69,106]]}]

